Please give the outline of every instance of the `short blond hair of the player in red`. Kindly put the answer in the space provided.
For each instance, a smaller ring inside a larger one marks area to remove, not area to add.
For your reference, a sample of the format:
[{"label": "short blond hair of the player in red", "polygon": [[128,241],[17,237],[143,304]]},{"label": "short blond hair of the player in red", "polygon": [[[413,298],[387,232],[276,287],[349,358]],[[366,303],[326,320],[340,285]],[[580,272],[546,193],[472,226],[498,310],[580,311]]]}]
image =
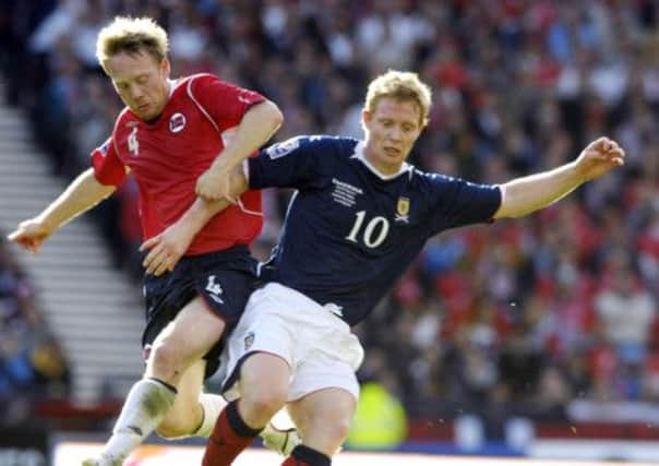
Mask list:
[{"label": "short blond hair of the player in red", "polygon": [[106,73],[108,60],[117,53],[146,52],[160,62],[168,50],[167,33],[151,17],[117,16],[96,39],[96,58]]}]

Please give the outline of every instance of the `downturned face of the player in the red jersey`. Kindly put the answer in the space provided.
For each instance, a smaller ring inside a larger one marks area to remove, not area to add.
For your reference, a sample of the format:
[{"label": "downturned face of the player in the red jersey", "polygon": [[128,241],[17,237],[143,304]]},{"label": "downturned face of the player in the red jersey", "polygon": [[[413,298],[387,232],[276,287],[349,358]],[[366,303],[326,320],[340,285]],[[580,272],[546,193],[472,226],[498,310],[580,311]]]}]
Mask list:
[{"label": "downturned face of the player in the red jersey", "polygon": [[145,121],[157,118],[169,98],[169,62],[146,52],[119,52],[107,62],[108,74],[121,100]]}]

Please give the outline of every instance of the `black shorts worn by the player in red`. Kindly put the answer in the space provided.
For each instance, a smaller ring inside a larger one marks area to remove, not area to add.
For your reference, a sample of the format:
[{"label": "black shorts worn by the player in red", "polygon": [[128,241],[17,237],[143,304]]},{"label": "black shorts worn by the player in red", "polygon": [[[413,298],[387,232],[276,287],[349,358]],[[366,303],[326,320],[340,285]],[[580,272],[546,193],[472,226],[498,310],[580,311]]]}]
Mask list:
[{"label": "black shorts worn by the player in red", "polygon": [[197,295],[224,322],[220,339],[204,356],[206,379],[219,367],[226,338],[236,327],[247,301],[257,286],[259,262],[247,246],[182,258],[172,272],[144,276],[146,327],[142,346],[149,346],[185,304]]}]

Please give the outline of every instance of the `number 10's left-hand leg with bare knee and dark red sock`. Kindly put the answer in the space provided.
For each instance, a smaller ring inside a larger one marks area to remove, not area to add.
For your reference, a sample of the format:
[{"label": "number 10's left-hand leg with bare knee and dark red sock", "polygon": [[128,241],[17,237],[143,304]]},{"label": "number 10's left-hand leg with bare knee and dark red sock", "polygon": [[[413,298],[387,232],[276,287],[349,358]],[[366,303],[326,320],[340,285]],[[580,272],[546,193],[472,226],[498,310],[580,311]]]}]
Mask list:
[{"label": "number 10's left-hand leg with bare knee and dark red sock", "polygon": [[217,419],[203,466],[230,465],[286,404],[290,369],[284,359],[254,353],[239,371],[241,397],[229,403]]}]

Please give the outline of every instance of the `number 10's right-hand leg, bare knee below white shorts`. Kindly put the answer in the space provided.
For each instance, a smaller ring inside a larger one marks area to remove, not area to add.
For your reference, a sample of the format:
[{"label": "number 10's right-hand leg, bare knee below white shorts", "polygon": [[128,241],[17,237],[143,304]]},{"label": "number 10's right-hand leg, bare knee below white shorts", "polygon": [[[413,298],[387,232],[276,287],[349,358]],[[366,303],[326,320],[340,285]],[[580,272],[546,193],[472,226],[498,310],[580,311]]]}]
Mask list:
[{"label": "number 10's right-hand leg, bare knee below white shorts", "polygon": [[355,396],[342,389],[313,392],[289,404],[289,413],[302,434],[283,465],[328,466],[348,437],[355,414]]}]

